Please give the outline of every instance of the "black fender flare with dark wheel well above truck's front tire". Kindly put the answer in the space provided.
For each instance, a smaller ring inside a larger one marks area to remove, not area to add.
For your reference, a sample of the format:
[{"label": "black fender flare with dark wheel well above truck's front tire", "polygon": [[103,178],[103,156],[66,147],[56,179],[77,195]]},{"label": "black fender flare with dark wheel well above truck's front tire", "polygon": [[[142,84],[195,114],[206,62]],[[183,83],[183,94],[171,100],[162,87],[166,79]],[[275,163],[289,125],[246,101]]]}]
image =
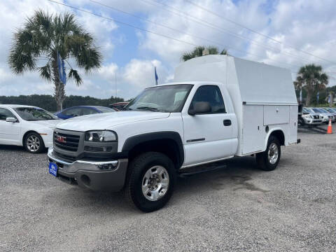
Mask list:
[{"label": "black fender flare with dark wheel well above truck's front tire", "polygon": [[122,152],[127,153],[130,159],[147,151],[164,153],[172,159],[176,169],[183,165],[183,142],[178,132],[165,131],[139,134],[126,139],[122,149]]}]

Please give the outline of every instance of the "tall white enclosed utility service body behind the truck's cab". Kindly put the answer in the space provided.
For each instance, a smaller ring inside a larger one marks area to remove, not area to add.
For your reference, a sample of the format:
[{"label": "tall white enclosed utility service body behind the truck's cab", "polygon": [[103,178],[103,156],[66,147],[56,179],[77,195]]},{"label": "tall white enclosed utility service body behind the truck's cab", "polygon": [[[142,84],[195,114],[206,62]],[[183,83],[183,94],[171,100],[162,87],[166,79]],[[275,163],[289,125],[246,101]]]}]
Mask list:
[{"label": "tall white enclosed utility service body behind the truck's cab", "polygon": [[[275,130],[284,134],[284,145],[297,143],[297,99],[290,71],[276,66],[223,55],[196,57],[176,68],[174,82],[218,82],[226,90],[237,116],[238,146],[235,155],[265,151]],[[224,95],[223,94],[223,95]],[[225,96],[225,95],[224,95]],[[266,128],[268,127],[268,131]]]}]

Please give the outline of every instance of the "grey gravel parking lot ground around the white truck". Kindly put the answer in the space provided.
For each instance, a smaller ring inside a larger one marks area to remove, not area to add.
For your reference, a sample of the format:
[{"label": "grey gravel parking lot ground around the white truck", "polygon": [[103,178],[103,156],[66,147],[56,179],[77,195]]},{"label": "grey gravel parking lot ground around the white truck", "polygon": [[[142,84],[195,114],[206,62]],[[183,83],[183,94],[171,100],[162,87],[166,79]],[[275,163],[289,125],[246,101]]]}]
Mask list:
[{"label": "grey gravel parking lot ground around the white truck", "polygon": [[246,157],[180,178],[151,214],[58,181],[45,153],[0,146],[0,251],[335,251],[336,134],[299,138],[273,172]]}]

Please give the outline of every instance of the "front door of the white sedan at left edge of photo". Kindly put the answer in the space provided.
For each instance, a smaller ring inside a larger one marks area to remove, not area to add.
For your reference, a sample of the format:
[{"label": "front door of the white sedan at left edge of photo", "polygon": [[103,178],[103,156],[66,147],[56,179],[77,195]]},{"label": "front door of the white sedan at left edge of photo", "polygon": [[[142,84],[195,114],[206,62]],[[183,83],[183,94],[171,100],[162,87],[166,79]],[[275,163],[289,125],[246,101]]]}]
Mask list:
[{"label": "front door of the white sedan at left edge of photo", "polygon": [[6,118],[18,119],[10,110],[0,108],[0,144],[22,144],[20,139],[20,123],[6,122]]}]

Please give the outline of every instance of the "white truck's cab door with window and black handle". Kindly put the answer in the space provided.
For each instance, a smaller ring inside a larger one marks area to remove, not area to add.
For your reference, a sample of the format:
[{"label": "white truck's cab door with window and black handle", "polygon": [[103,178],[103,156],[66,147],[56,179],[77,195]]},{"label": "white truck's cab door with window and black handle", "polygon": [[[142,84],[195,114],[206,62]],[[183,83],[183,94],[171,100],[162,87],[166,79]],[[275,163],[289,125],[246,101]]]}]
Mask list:
[{"label": "white truck's cab door with window and black handle", "polygon": [[218,85],[202,85],[197,88],[190,103],[208,102],[211,111],[190,116],[182,113],[185,147],[184,166],[199,165],[232,156],[237,137],[234,136],[235,114],[227,113]]}]

